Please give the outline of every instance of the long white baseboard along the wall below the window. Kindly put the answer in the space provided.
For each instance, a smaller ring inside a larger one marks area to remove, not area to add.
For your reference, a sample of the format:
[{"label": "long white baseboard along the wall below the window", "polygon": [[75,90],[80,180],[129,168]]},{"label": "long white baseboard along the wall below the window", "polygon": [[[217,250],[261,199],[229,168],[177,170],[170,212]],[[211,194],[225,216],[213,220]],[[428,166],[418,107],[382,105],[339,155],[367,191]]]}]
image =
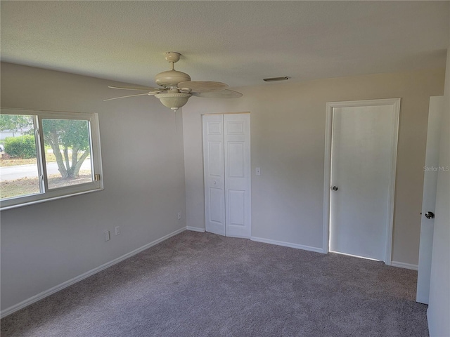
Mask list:
[{"label": "long white baseboard along the wall below the window", "polygon": [[150,242],[149,244],[146,244],[144,246],[141,246],[138,249],[134,249],[134,251],[130,251],[129,253],[126,253],[125,255],[120,256],[119,258],[115,258],[114,260],[111,260],[110,262],[104,263],[103,265],[100,265],[92,270],[89,270],[89,272],[84,272],[82,275],[78,275],[77,277],[74,277],[73,279],[69,279],[68,281],[58,284],[57,286],[53,286],[53,288],[51,288],[51,289],[42,291],[41,293],[38,293],[37,295],[27,298],[26,300],[23,300],[22,302],[20,302],[16,305],[6,308],[5,310],[1,310],[0,317],[3,318],[8,315],[11,315],[13,312],[20,310],[22,308],[25,308],[27,305],[30,305],[34,302],[37,302],[38,300],[41,300],[42,298],[50,296],[51,294],[56,293],[57,291],[63,290],[64,288],[67,288],[68,286],[71,286],[72,284],[75,284],[75,283],[81,281],[82,279],[86,279],[86,277],[92,276],[92,275],[96,274],[97,272],[101,272],[101,270],[111,267],[112,265],[115,265],[116,263],[120,263],[121,261],[126,260],[127,258],[131,258],[131,256],[134,256],[137,253],[141,253],[141,251],[145,251],[146,249],[149,249],[151,246],[155,246],[156,244],[159,244],[160,242],[163,242],[163,241],[169,239],[169,237],[173,237],[174,235],[184,232],[185,230],[186,230],[186,227],[180,228],[179,230],[176,230],[170,234],[167,234],[164,237],[161,237],[160,239]]}]

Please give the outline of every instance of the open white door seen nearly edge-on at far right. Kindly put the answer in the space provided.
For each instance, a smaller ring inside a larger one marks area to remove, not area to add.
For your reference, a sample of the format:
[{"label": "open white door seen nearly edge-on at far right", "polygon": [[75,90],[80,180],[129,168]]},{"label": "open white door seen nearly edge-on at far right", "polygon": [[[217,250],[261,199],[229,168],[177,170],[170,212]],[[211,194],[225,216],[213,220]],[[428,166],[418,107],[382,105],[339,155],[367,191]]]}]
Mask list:
[{"label": "open white door seen nearly edge-on at far right", "polygon": [[[444,96],[430,97],[428,113],[427,150],[423,174],[422,222],[420,224],[419,268],[417,277],[417,297],[420,303],[428,304],[430,294],[430,272],[435,228],[437,173],[439,170],[439,143],[441,133]],[[427,218],[427,213],[428,217]]]}]

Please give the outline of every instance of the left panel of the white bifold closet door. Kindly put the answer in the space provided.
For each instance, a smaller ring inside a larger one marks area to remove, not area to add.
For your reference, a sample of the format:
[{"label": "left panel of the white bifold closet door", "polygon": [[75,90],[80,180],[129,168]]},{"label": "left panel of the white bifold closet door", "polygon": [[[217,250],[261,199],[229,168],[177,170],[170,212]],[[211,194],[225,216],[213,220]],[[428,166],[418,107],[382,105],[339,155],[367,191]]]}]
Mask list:
[{"label": "left panel of the white bifold closet door", "polygon": [[205,230],[225,235],[224,115],[203,116]]}]

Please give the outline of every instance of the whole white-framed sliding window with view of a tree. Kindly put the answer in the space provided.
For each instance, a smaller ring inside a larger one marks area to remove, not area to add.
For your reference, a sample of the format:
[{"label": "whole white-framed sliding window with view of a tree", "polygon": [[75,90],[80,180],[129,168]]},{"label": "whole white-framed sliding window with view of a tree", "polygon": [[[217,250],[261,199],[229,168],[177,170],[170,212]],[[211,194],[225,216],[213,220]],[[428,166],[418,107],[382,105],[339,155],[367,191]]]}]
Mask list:
[{"label": "whole white-framed sliding window with view of a tree", "polygon": [[1,109],[0,207],[103,190],[98,115]]}]

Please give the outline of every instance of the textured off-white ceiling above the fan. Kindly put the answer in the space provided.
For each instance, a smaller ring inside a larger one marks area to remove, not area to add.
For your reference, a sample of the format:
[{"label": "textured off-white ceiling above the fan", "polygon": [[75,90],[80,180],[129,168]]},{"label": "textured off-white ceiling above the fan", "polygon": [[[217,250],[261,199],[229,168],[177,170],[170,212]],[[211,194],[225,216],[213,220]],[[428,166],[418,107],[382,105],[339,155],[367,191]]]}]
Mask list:
[{"label": "textured off-white ceiling above the fan", "polygon": [[444,67],[449,1],[1,1],[1,60],[154,86]]}]

